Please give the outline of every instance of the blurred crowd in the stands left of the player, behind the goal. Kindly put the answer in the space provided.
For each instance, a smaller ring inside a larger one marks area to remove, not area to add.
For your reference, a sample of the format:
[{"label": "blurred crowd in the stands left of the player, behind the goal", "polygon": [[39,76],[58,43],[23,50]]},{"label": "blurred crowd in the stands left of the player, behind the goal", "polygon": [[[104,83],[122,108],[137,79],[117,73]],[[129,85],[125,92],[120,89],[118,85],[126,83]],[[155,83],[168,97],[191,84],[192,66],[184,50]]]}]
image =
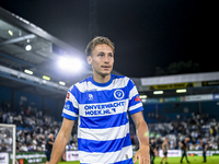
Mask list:
[{"label": "blurred crowd in the stands left of the player, behind the goal", "polygon": [[[16,125],[16,152],[42,152],[46,150],[48,134],[55,137],[60,129],[61,122],[53,116],[37,112],[35,108],[21,106],[19,114],[0,107],[0,124]],[[77,127],[77,126],[76,126]],[[68,149],[77,148],[77,128],[72,130],[72,138]],[[0,127],[0,152],[12,151],[12,129]]]}]

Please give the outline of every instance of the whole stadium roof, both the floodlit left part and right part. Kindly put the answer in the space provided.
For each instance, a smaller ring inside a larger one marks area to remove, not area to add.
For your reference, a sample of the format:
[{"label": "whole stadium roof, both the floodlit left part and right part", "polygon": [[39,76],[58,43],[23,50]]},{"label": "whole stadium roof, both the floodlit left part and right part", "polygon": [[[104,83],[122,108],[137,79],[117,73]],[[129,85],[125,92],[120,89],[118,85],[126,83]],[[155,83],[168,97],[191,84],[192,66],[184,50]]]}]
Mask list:
[{"label": "whole stadium roof, both the floodlit left part and right part", "polygon": [[[27,45],[32,46],[31,50],[25,49]],[[80,58],[84,62],[83,71],[61,72],[57,68],[57,60],[69,56]],[[24,70],[30,70],[33,74],[26,74]],[[115,70],[113,73],[119,74]],[[91,74],[92,70],[87,65],[83,52],[27,20],[0,8],[0,85],[61,98],[70,85]],[[42,79],[43,75],[49,77],[50,81]],[[189,92],[184,94],[219,93],[219,72],[132,78],[132,80],[139,92],[150,97],[154,96],[152,91],[158,90],[158,85],[165,85],[163,87],[168,89],[168,92],[160,96],[177,95],[175,93],[177,86],[169,87],[176,83],[183,83],[185,87],[187,83],[192,83]],[[60,85],[60,81],[66,85]],[[208,84],[204,87],[204,83],[211,81],[216,82],[216,85]]]}]

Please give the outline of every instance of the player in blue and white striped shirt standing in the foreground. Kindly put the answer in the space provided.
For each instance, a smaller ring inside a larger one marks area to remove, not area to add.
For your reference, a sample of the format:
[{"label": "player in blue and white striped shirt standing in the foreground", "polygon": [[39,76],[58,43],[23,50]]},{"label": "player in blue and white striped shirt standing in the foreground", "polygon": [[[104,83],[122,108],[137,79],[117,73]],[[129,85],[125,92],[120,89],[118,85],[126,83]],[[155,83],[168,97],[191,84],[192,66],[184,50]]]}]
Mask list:
[{"label": "player in blue and white striped shirt standing in the foreground", "polygon": [[[78,119],[80,163],[149,164],[149,131],[141,110],[142,103],[134,82],[124,75],[112,74],[114,44],[97,36],[87,46],[87,61],[93,75],[72,85],[62,110],[62,126],[54,144],[50,164],[57,164],[71,129]],[[129,136],[130,114],[140,148],[132,161]]]}]

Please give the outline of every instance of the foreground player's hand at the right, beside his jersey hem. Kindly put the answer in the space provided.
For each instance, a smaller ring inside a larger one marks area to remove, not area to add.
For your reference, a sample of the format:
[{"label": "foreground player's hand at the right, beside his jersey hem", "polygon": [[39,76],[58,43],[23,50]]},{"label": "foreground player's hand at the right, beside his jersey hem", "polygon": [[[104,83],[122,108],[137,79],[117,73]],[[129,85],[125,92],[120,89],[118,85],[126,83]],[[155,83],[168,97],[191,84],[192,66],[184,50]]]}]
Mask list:
[{"label": "foreground player's hand at the right, beside his jersey hem", "polygon": [[139,160],[139,164],[150,164],[149,145],[141,145],[134,156],[134,163]]}]

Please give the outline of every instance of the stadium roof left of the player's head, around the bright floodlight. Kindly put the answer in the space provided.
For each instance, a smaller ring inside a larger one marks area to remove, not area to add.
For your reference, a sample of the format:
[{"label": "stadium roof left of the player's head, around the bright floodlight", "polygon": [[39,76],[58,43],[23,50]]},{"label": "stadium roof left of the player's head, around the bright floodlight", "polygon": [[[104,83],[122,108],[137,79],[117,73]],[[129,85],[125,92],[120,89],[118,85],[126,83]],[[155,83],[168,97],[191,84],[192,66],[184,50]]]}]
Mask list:
[{"label": "stadium roof left of the player's head, around the bright floodlight", "polygon": [[[31,50],[25,49],[27,45],[32,46]],[[60,97],[66,94],[68,86],[92,73],[85,62],[80,73],[61,72],[57,68],[57,61],[60,57],[69,56],[85,61],[83,52],[27,20],[0,8],[0,85]],[[24,73],[25,69],[33,74]],[[43,80],[43,75],[51,80]],[[67,86],[60,85],[59,81]],[[53,94],[57,92],[61,95]]]}]

